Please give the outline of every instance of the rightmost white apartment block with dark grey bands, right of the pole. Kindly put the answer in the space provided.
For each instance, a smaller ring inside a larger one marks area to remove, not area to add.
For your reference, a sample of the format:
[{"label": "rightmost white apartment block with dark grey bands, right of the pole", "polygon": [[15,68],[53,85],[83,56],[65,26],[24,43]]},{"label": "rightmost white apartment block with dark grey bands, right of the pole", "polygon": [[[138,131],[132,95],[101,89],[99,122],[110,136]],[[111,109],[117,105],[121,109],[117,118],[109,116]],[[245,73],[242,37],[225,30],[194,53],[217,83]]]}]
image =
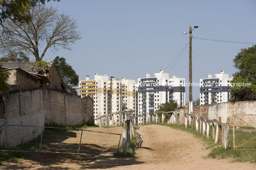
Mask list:
[{"label": "rightmost white apartment block with dark grey bands, right of the pole", "polygon": [[208,74],[200,79],[200,105],[227,102],[230,99],[230,78],[222,70],[220,74]]}]

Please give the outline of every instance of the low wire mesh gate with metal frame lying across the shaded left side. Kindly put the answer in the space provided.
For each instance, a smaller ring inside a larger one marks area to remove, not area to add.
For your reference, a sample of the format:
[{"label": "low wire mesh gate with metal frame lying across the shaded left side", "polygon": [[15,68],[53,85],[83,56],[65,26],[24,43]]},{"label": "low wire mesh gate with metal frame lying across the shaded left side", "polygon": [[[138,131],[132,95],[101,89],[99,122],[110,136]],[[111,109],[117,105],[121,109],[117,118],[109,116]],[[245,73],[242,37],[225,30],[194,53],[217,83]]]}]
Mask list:
[{"label": "low wire mesh gate with metal frame lying across the shaded left side", "polygon": [[55,127],[2,125],[0,150],[114,156],[121,134]]}]

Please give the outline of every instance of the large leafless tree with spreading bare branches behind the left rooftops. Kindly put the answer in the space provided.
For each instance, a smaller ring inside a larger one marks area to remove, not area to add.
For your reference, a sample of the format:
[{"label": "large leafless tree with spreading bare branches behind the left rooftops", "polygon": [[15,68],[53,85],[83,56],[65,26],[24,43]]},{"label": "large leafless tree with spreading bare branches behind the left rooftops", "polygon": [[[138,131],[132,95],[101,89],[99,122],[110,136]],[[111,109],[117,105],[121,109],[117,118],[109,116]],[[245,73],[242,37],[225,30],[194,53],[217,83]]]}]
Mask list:
[{"label": "large leafless tree with spreading bare branches behind the left rooftops", "polygon": [[[40,4],[25,14],[29,20],[15,22],[6,19],[2,23],[5,31],[0,36],[0,52],[28,52],[40,61],[48,49],[54,51],[61,47],[71,50],[70,45],[81,38],[76,30],[76,20],[64,13],[58,14],[52,7]],[[43,49],[41,54],[39,49]]]}]

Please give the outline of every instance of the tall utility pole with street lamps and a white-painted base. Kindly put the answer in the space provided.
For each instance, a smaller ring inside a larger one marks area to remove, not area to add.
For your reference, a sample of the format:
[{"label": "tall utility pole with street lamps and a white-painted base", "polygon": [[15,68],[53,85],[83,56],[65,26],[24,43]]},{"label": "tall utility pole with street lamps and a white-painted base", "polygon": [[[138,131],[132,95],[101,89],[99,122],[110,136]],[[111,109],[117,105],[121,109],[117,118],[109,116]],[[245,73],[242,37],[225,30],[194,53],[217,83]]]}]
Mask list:
[{"label": "tall utility pole with street lamps and a white-painted base", "polygon": [[[193,30],[198,28],[195,25]],[[193,115],[193,100],[192,100],[192,27],[189,27],[189,114]],[[188,32],[183,32],[187,34]],[[191,116],[189,116],[189,123],[191,124]],[[193,126],[191,127],[193,129]]]}]

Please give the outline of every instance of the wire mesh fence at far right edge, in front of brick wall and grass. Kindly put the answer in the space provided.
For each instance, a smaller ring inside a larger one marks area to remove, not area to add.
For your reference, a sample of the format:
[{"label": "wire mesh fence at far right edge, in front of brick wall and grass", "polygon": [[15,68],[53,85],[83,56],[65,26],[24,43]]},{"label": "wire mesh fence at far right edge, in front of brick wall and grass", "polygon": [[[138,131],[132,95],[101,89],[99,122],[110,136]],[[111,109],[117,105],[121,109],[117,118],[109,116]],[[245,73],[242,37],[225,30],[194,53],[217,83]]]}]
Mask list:
[{"label": "wire mesh fence at far right edge, in front of brick wall and grass", "polygon": [[234,138],[229,143],[235,149],[256,150],[256,114],[233,115],[232,120],[229,135]]}]

